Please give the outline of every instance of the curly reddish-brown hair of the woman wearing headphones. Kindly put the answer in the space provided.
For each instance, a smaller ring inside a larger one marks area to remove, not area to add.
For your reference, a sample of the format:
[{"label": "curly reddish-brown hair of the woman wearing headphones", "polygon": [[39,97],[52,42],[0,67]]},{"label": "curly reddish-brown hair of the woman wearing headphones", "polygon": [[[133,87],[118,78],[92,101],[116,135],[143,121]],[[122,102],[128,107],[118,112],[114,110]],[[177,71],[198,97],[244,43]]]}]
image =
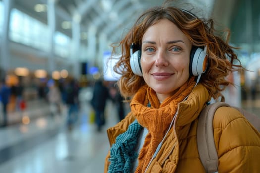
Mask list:
[{"label": "curly reddish-brown hair of the woman wearing headphones", "polygon": [[[216,31],[212,19],[201,19],[189,11],[172,7],[153,7],[145,11],[136,21],[134,26],[117,45],[121,48],[121,56],[114,66],[114,71],[121,75],[117,84],[121,94],[126,97],[133,96],[145,84],[143,77],[135,75],[130,67],[130,46],[132,43],[141,45],[142,37],[146,30],[156,22],[168,19],[173,22],[191,41],[194,46],[207,47],[208,68],[202,74],[200,83],[204,85],[213,98],[221,95],[230,81],[226,76],[232,71],[243,69],[237,55],[229,45],[230,31]],[[226,34],[226,37],[223,37]]]}]

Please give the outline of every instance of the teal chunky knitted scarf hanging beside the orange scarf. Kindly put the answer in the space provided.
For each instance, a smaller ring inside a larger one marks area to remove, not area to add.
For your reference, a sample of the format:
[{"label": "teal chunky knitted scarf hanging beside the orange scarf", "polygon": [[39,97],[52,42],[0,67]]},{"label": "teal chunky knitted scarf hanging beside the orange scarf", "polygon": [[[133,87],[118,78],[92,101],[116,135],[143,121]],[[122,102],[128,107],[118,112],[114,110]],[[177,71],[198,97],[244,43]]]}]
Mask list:
[{"label": "teal chunky knitted scarf hanging beside the orange scarf", "polygon": [[138,157],[138,153],[134,151],[142,128],[135,120],[124,133],[116,137],[110,149],[108,173],[131,172],[132,162]]}]

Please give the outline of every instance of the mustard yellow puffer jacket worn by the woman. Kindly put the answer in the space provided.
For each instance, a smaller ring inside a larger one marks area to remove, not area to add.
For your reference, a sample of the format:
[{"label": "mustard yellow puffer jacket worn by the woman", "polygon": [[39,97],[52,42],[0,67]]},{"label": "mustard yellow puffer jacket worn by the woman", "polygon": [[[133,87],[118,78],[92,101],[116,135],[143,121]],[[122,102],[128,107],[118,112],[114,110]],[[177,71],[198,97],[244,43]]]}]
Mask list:
[{"label": "mustard yellow puffer jacket worn by the woman", "polygon": [[[208,100],[207,89],[199,84],[187,100],[179,103],[173,128],[146,173],[206,172],[199,158],[196,133],[198,115]],[[124,120],[107,130],[110,145],[134,119],[130,112]],[[240,112],[220,107],[215,113],[213,127],[219,173],[260,173],[260,133]],[[104,173],[108,170],[109,153]]]}]

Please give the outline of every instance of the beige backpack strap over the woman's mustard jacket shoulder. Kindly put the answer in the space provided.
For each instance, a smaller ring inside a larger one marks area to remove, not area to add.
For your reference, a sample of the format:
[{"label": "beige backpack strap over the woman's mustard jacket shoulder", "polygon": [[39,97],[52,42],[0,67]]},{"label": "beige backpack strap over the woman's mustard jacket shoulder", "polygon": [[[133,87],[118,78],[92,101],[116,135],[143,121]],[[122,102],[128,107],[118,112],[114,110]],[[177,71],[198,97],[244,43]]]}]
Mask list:
[{"label": "beige backpack strap over the woman's mustard jacket shoulder", "polygon": [[216,102],[206,106],[199,115],[197,127],[197,146],[201,162],[207,173],[218,171],[218,155],[213,133],[213,118],[215,111],[227,103]]}]

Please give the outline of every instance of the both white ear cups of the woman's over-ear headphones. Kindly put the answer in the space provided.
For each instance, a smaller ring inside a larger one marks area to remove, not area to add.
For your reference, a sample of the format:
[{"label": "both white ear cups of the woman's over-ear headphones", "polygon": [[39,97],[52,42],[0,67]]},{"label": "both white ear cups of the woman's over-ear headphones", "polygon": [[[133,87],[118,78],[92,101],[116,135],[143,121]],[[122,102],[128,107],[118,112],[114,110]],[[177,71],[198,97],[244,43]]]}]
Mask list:
[{"label": "both white ear cups of the woman's over-ear headphones", "polygon": [[[141,50],[133,53],[134,44],[130,47],[130,66],[134,74],[143,76],[141,68]],[[204,49],[193,46],[190,53],[189,72],[192,76],[199,76],[207,70],[208,56],[206,54],[206,46]]]}]

